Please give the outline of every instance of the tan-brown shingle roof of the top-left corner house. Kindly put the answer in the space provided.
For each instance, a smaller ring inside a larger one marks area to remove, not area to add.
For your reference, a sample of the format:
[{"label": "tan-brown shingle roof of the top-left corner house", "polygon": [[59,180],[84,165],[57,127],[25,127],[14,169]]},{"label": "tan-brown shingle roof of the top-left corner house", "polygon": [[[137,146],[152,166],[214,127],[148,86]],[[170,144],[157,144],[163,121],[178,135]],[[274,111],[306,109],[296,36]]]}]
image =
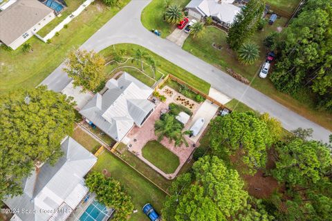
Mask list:
[{"label": "tan-brown shingle roof of the top-left corner house", "polygon": [[12,44],[50,12],[53,12],[51,8],[37,0],[17,0],[0,12],[0,40],[6,45]]}]

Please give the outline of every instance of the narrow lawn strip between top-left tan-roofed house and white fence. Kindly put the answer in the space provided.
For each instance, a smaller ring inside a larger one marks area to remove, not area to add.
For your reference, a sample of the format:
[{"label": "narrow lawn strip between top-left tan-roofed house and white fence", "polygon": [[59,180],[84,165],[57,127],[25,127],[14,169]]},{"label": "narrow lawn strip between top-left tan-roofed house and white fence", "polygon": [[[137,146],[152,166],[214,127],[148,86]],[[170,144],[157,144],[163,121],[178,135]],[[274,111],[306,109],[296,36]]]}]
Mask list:
[{"label": "narrow lawn strip between top-left tan-roofed house and white fence", "polygon": [[[55,28],[59,23],[64,21],[66,17],[71,15],[72,12],[74,12],[82,3],[84,3],[85,0],[71,0],[71,1],[66,1],[67,3],[67,8],[61,13],[61,17],[55,17],[53,21],[50,21],[44,28],[39,30],[37,32],[38,35],[45,37],[53,28]],[[90,6],[89,6],[90,7]],[[71,23],[68,23],[68,26],[70,26]]]}]

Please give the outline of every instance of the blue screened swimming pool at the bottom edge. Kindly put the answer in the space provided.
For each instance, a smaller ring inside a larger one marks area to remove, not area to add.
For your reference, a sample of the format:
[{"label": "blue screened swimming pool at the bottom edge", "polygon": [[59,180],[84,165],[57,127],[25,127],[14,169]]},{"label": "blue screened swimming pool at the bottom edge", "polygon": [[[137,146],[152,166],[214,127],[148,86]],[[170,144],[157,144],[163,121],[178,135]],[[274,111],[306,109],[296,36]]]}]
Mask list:
[{"label": "blue screened swimming pool at the bottom edge", "polygon": [[93,201],[81,215],[80,221],[103,221],[107,220],[110,214],[111,210],[107,209],[104,204]]}]

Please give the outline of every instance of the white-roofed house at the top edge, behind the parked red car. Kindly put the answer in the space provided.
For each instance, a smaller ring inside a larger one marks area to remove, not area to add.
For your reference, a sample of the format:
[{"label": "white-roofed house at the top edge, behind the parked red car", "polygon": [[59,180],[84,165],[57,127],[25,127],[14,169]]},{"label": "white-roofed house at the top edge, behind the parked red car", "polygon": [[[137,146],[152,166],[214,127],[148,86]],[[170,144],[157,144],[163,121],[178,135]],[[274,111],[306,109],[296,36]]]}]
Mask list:
[{"label": "white-roofed house at the top edge, behind the parked red car", "polygon": [[192,0],[185,8],[188,10],[188,15],[196,19],[212,17],[214,21],[228,29],[235,15],[241,10],[233,3],[234,0]]}]

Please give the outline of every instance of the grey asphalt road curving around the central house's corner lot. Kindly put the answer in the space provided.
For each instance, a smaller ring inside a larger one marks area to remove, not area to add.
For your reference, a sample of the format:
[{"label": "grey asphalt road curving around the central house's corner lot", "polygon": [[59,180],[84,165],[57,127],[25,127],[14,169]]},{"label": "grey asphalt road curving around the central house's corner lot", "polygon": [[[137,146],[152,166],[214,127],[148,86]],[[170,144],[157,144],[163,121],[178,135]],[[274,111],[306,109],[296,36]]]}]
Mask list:
[{"label": "grey asphalt road curving around the central house's corner lot", "polygon": [[[294,113],[258,90],[242,84],[218,68],[182,50],[173,42],[161,39],[145,29],[140,22],[140,14],[150,1],[132,0],[100,30],[95,32],[81,48],[100,51],[119,43],[144,46],[197,77],[208,81],[213,88],[220,90],[225,95],[238,99],[261,113],[270,113],[272,117],[279,119],[288,131],[299,127],[313,128],[313,139],[323,142],[329,141],[331,131]],[[47,85],[50,90],[61,91],[71,81],[62,71],[62,68],[63,64],[46,77],[42,84]]]}]

